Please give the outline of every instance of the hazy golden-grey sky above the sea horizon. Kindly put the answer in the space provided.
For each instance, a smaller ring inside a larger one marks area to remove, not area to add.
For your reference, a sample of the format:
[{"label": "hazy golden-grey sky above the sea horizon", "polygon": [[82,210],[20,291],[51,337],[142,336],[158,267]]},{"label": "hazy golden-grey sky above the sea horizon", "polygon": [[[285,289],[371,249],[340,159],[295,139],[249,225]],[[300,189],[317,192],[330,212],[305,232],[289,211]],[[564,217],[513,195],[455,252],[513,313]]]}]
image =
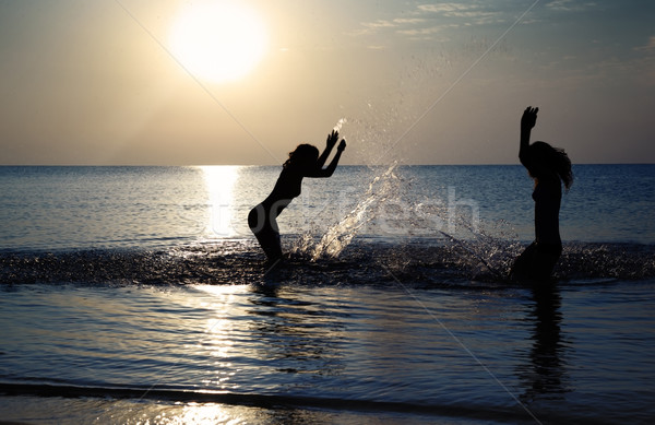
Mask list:
[{"label": "hazy golden-grey sky above the sea horizon", "polygon": [[0,0],[0,164],[275,165],[337,122],[342,164],[517,164],[528,105],[573,163],[655,163],[651,0],[205,3]]}]

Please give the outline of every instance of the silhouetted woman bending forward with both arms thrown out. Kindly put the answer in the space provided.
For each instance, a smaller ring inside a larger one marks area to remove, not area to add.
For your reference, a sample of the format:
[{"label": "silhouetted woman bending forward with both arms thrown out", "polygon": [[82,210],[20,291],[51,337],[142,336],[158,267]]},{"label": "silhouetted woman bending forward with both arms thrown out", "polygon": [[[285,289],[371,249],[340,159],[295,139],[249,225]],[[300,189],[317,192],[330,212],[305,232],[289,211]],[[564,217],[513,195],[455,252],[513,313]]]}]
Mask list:
[{"label": "silhouetted woman bending forward with both arms thrown out", "polygon": [[330,177],[334,173],[342,152],[346,149],[346,141],[342,140],[336,154],[326,168],[323,168],[330,152],[338,140],[338,132],[332,131],[327,135],[325,150],[319,156],[319,150],[311,144],[300,144],[289,153],[289,158],[284,163],[282,173],[273,191],[259,205],[248,214],[248,225],[257,236],[270,262],[282,258],[277,216],[300,194],[302,177]]}]

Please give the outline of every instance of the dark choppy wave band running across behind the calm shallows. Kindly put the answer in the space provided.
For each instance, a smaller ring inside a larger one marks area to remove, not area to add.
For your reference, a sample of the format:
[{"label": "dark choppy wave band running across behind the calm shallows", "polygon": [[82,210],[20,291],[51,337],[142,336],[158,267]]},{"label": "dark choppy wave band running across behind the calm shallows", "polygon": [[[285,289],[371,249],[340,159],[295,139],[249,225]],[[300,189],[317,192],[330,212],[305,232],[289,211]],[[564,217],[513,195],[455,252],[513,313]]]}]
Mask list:
[{"label": "dark choppy wave band running across behind the calm shallows", "polygon": [[[359,238],[338,257],[313,259],[311,249],[291,249],[284,264],[273,271],[251,239],[165,250],[4,250],[0,251],[0,283],[505,285],[504,276],[524,247],[498,239]],[[562,284],[655,278],[655,246],[564,244],[555,275]]]}]

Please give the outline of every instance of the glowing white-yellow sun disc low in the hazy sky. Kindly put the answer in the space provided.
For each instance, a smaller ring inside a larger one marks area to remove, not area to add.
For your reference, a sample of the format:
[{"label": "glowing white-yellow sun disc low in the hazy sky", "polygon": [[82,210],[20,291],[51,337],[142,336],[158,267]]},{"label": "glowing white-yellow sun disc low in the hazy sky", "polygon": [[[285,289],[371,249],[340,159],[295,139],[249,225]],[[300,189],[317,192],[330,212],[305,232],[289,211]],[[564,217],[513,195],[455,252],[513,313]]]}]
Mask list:
[{"label": "glowing white-yellow sun disc low in the hazy sky", "polygon": [[186,7],[169,36],[171,54],[193,76],[215,83],[246,76],[263,58],[266,32],[257,12],[238,1]]}]

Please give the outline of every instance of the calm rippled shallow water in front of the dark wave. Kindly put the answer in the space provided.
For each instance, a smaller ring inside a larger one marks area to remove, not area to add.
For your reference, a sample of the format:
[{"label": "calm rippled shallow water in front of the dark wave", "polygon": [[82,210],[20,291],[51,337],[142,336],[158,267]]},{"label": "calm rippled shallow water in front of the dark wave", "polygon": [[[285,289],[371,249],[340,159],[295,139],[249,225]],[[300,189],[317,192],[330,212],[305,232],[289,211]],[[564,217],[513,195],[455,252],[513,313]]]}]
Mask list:
[{"label": "calm rippled shallow water in front of the dark wave", "polygon": [[0,376],[23,396],[646,423],[654,286],[12,285]]}]

